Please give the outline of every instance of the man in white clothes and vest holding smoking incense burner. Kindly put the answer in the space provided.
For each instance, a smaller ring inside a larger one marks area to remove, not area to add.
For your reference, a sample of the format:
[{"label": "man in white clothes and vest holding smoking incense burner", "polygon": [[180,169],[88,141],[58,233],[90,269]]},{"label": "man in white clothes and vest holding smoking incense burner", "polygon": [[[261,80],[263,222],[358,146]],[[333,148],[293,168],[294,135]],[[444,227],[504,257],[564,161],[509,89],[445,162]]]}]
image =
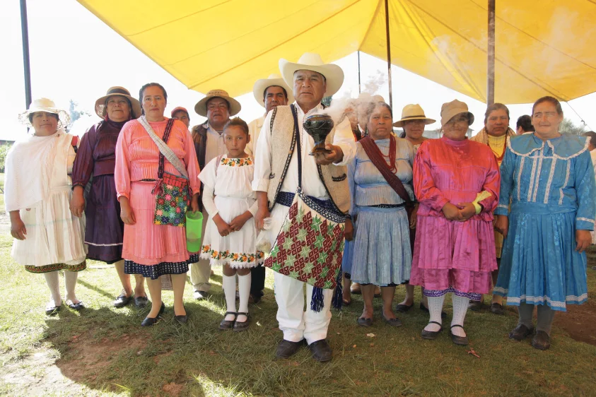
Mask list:
[{"label": "man in white clothes and vest holding smoking incense burner", "polygon": [[[293,86],[296,102],[292,107],[278,106],[267,114],[256,146],[255,179],[252,182],[252,189],[257,191],[259,203],[255,222],[257,228],[262,229],[264,219],[271,218],[271,229],[267,230],[271,246],[275,244],[298,188],[298,156],[303,169],[303,194],[325,205],[334,206],[341,213],[347,213],[349,188],[345,166],[356,154],[356,143],[347,119],[335,126],[330,133],[333,134],[333,140],[325,146],[329,150],[325,154],[308,155],[315,142],[303,127],[306,116],[321,113],[324,109],[321,105],[322,98],[337,93],[341,88],[344,81],[341,68],[334,64],[324,64],[318,54],[305,53],[298,63],[280,59],[279,69],[284,81]],[[293,114],[296,114],[298,131],[293,128],[296,124],[293,122]],[[271,131],[271,126],[274,131]],[[299,145],[297,136],[300,137]],[[289,150],[279,150],[281,146],[287,146]],[[272,147],[278,150],[272,150]],[[315,360],[329,361],[332,359],[332,350],[325,338],[331,320],[333,290],[318,290],[307,284],[307,309],[304,311],[304,284],[289,275],[274,273],[277,320],[284,333],[276,356],[291,357],[306,341]],[[317,290],[322,297],[314,296],[313,292]],[[322,300],[322,309],[312,309],[313,299],[315,302]]]}]

